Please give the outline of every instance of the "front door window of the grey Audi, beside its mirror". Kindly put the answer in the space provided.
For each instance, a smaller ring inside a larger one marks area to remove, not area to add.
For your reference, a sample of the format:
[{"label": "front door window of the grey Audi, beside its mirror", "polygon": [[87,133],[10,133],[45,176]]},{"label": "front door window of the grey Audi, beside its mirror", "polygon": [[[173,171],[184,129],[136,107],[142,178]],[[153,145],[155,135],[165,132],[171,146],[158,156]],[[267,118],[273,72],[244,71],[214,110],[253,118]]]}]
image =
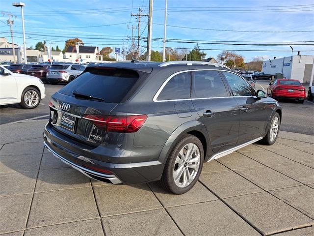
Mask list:
[{"label": "front door window of the grey Audi, beside its mirror", "polygon": [[240,76],[223,71],[222,72],[227,79],[228,84],[231,87],[231,90],[234,96],[254,96],[255,90]]}]

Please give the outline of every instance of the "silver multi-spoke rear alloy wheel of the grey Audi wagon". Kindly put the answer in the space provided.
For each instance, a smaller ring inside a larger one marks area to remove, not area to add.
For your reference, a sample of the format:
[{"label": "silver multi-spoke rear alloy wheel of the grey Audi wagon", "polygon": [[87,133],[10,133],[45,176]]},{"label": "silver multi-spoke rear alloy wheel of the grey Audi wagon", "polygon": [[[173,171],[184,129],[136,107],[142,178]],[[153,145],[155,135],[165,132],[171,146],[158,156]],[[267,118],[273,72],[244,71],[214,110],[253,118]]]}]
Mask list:
[{"label": "silver multi-spoke rear alloy wheel of the grey Audi wagon", "polygon": [[201,161],[200,149],[189,143],[180,150],[173,169],[173,179],[178,187],[188,186],[196,177]]}]

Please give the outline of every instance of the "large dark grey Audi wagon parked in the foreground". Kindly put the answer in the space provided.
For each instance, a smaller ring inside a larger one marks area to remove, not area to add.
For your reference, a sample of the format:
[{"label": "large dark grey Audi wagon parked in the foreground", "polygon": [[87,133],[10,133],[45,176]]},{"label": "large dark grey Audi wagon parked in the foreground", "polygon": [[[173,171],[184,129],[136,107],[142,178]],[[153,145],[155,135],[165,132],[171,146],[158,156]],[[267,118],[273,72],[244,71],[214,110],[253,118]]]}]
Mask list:
[{"label": "large dark grey Audi wagon parked in the foreground", "polygon": [[175,194],[204,162],[257,141],[275,143],[282,110],[221,64],[113,62],[86,67],[52,95],[44,144],[108,183],[160,180]]}]

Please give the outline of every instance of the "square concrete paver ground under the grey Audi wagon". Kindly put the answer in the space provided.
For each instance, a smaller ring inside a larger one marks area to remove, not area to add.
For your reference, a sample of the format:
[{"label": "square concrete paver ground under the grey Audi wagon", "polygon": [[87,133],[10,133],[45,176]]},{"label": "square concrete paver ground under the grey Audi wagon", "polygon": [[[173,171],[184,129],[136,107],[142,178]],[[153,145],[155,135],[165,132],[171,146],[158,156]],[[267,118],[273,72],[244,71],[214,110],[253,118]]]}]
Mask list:
[{"label": "square concrete paver ground under the grey Audi wagon", "polygon": [[44,148],[46,122],[0,125],[0,235],[314,235],[314,136],[281,131],[171,195],[85,177]]}]

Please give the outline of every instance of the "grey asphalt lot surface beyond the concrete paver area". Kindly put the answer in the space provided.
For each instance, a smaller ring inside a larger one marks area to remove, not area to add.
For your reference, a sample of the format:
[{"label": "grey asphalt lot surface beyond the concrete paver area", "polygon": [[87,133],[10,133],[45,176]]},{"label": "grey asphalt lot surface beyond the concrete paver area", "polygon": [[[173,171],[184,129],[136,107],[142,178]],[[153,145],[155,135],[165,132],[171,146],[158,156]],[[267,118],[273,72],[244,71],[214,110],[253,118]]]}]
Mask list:
[{"label": "grey asphalt lot surface beyond the concrete paver area", "polygon": [[[267,88],[269,81],[259,80],[256,83],[256,89]],[[63,85],[46,84],[46,97],[35,109],[25,110],[18,104],[0,107],[0,124],[15,122],[23,119],[37,118],[49,115],[48,103],[51,95],[61,89]],[[283,120],[281,130],[294,133],[314,135],[314,103],[305,101],[303,104],[296,102],[281,101],[283,109]]]}]

